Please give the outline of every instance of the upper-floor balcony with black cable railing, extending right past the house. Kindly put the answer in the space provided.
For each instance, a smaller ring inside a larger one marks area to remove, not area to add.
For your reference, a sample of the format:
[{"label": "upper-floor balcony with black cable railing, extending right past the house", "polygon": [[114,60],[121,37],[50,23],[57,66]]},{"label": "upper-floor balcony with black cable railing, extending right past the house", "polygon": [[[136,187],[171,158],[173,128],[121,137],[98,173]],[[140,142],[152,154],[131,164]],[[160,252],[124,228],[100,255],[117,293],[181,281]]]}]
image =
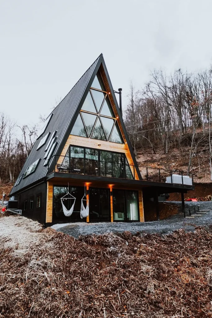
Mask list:
[{"label": "upper-floor balcony with black cable railing, extending right past the house", "polygon": [[[54,160],[51,163],[51,167],[53,164],[54,172],[131,180],[136,179],[135,176],[139,175],[139,180],[142,181],[194,185],[192,173],[185,173],[180,170],[177,171],[176,169],[168,170],[147,166],[138,166],[138,168],[136,168],[134,165],[129,165],[126,162],[106,162],[68,156],[53,156],[53,158]],[[50,160],[51,159],[52,158],[50,158]],[[185,177],[190,178],[189,183],[185,183],[185,180],[188,180],[185,179]],[[178,181],[176,182],[176,180]]]}]

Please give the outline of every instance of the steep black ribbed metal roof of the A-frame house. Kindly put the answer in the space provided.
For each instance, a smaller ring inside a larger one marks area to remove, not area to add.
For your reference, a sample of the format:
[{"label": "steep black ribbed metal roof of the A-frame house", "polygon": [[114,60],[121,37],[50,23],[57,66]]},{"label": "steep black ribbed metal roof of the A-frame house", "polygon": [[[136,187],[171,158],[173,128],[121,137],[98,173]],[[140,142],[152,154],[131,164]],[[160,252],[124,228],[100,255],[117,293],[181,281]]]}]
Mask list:
[{"label": "steep black ribbed metal roof of the A-frame house", "polygon": [[[20,192],[21,189],[28,187],[32,183],[36,183],[39,180],[43,179],[49,172],[51,172],[50,169],[48,169],[48,166],[44,166],[44,155],[45,155],[45,147],[41,147],[40,149],[36,150],[38,148],[38,144],[40,140],[43,138],[44,135],[51,132],[51,134],[55,131],[57,131],[57,145],[54,149],[53,155],[60,155],[65,143],[68,139],[68,136],[71,133],[72,127],[75,123],[75,120],[77,119],[77,116],[79,114],[79,111],[85,101],[85,98],[89,92],[89,89],[92,85],[93,79],[96,75],[96,73],[99,70],[100,65],[104,67],[104,71],[108,80],[108,84],[111,90],[111,93],[113,95],[113,100],[115,102],[117,112],[119,114],[119,118],[121,121],[121,124],[123,126],[125,138],[127,140],[134,165],[136,166],[136,170],[139,172],[137,168],[137,162],[135,160],[135,156],[133,154],[133,150],[131,147],[131,143],[127,137],[127,132],[124,127],[124,122],[122,120],[122,116],[120,114],[120,110],[116,101],[116,97],[113,93],[113,87],[106,69],[105,61],[103,58],[103,55],[100,54],[99,57],[93,62],[93,64],[88,68],[88,70],[83,74],[83,76],[79,79],[79,81],[73,86],[71,91],[65,96],[65,98],[58,104],[58,106],[51,112],[52,116],[50,119],[50,122],[44,132],[43,135],[41,135],[35,142],[34,146],[32,147],[32,150],[26,159],[26,162],[24,163],[24,166],[19,174],[21,176],[27,167],[29,167],[33,162],[41,158],[41,160],[38,163],[38,166],[35,170],[35,172],[29,174],[25,178],[22,178],[20,183],[16,186],[13,186],[10,196],[14,195],[15,193]],[[51,115],[50,114],[50,115]],[[53,159],[52,159],[53,160]],[[51,167],[51,162],[50,162]],[[53,166],[52,166],[53,168]],[[140,174],[140,173],[139,173]]]}]

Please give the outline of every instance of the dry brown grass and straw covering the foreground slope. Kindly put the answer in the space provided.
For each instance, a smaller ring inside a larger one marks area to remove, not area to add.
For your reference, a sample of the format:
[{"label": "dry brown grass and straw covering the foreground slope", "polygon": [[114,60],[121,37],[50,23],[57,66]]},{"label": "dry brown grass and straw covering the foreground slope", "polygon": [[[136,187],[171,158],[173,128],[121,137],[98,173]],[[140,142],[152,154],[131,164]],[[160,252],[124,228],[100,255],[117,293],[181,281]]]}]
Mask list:
[{"label": "dry brown grass and straw covering the foreground slope", "polygon": [[211,228],[76,240],[21,220],[0,218],[0,317],[211,317]]}]

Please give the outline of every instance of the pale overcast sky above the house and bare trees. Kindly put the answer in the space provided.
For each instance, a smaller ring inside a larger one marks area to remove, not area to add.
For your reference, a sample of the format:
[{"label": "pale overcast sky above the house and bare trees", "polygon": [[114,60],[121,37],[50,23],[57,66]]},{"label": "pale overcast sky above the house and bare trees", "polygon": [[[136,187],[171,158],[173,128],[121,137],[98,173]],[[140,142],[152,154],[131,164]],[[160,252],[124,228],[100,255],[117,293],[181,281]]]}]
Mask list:
[{"label": "pale overcast sky above the house and bare trees", "polygon": [[113,84],[208,67],[211,0],[0,0],[0,110],[38,122],[102,52]]}]

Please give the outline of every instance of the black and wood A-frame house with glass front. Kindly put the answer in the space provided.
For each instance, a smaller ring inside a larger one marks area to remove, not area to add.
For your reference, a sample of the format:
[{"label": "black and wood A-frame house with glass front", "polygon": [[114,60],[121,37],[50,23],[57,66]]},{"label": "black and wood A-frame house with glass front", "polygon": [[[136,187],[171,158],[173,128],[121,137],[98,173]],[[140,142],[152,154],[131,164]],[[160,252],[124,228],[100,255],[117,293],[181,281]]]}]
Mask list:
[{"label": "black and wood A-frame house with glass front", "polygon": [[[10,197],[22,215],[46,226],[143,222],[143,194],[191,189],[142,180],[101,54],[46,119]],[[70,195],[76,198],[70,217],[61,204],[67,193],[67,210],[73,203]],[[89,215],[81,219],[84,194]]]}]

